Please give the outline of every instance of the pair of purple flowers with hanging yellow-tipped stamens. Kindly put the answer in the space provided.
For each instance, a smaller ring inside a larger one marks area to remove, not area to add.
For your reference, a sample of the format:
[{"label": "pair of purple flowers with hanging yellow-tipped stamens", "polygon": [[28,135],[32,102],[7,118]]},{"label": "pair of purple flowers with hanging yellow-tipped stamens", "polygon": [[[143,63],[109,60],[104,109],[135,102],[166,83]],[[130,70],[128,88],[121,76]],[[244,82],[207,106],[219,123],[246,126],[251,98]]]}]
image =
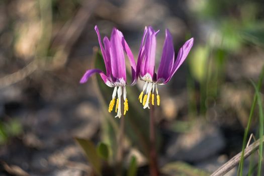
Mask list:
[{"label": "pair of purple flowers with hanging yellow-tipped stamens", "polygon": [[[156,92],[157,105],[160,104],[157,84],[167,83],[172,75],[177,71],[181,64],[186,59],[189,51],[193,46],[193,38],[188,40],[180,49],[177,58],[174,57],[174,48],[172,37],[166,29],[165,41],[161,61],[157,73],[155,73],[155,50],[156,50],[156,35],[158,31],[154,31],[152,27],[146,27],[141,41],[137,65],[135,63],[133,54],[124,39],[123,34],[113,29],[110,40],[108,37],[103,39],[102,45],[99,29],[96,26],[95,30],[98,35],[99,45],[101,47],[102,55],[106,65],[106,74],[100,69],[87,70],[82,76],[80,83],[84,83],[94,73],[99,73],[104,82],[110,86],[115,87],[112,95],[112,100],[109,105],[109,112],[112,112],[116,103],[115,111],[116,117],[121,117],[121,99],[123,92],[124,99],[124,115],[128,111],[128,100],[126,98],[126,66],[125,54],[128,56],[131,71],[132,81],[129,85],[134,85],[137,78],[145,81],[143,91],[139,95],[139,101],[143,104],[144,109],[149,108],[149,103],[154,105],[154,92]],[[145,95],[144,95],[145,92]],[[117,95],[117,99],[116,99]],[[143,97],[144,95],[144,97]]]}]

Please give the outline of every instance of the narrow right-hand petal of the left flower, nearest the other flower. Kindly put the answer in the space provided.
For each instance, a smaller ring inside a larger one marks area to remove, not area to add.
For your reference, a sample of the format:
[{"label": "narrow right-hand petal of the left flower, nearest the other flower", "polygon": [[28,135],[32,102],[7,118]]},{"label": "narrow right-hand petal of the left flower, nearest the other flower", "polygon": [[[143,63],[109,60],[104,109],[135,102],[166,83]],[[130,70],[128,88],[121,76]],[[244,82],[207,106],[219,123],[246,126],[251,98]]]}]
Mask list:
[{"label": "narrow right-hand petal of the left flower, nearest the other flower", "polygon": [[133,53],[132,51],[130,50],[124,36],[123,36],[123,39],[122,39],[122,44],[123,44],[123,48],[124,48],[124,51],[126,52],[127,56],[128,56],[128,59],[129,59],[129,62],[130,62],[130,65],[131,65],[131,72],[132,72],[132,79],[131,79],[131,83],[130,85],[134,85],[136,82],[137,82],[137,77],[136,77],[136,62],[135,62],[135,59],[134,59],[134,56],[133,56]]}]

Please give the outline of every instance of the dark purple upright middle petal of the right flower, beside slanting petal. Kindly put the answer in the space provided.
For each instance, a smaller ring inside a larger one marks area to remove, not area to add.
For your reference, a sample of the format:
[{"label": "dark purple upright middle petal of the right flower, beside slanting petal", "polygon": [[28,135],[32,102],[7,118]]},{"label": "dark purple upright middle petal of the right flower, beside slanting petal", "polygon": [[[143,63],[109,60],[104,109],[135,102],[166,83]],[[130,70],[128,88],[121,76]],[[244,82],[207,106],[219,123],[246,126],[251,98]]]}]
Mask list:
[{"label": "dark purple upright middle petal of the right flower, beside slanting petal", "polygon": [[162,56],[157,72],[157,83],[163,83],[170,76],[174,62],[174,47],[171,34],[166,29],[166,37],[163,45]]}]

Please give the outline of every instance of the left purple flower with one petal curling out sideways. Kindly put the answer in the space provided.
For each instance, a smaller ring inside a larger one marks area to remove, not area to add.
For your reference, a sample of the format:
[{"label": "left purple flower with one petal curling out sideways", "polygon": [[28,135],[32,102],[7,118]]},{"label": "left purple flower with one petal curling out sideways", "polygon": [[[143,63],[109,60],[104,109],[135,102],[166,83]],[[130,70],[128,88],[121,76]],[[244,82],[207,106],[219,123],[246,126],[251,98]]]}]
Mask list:
[{"label": "left purple flower with one petal curling out sideways", "polygon": [[116,117],[121,117],[121,96],[122,92],[124,99],[124,115],[128,111],[128,100],[126,98],[126,65],[125,65],[125,55],[127,54],[131,70],[132,70],[132,82],[130,85],[134,85],[137,81],[136,77],[136,63],[133,57],[133,54],[124,39],[123,34],[117,30],[113,29],[110,40],[108,37],[105,37],[103,40],[104,46],[101,42],[101,36],[99,33],[99,29],[95,26],[96,33],[98,35],[99,45],[101,47],[102,55],[104,58],[104,62],[106,65],[106,74],[100,69],[90,69],[87,70],[82,78],[80,79],[80,83],[86,82],[89,77],[91,77],[94,73],[99,73],[104,82],[110,86],[115,87],[112,95],[112,100],[109,105],[109,112],[113,111],[115,106],[115,100],[117,95],[116,107],[115,111],[117,113]]}]

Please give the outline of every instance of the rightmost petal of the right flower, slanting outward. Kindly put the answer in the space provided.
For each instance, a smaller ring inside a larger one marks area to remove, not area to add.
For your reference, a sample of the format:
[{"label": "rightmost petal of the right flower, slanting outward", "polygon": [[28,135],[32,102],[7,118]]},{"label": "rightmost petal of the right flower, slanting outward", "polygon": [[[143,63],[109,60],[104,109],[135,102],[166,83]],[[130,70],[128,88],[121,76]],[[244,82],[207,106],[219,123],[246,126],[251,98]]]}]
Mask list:
[{"label": "rightmost petal of the right flower, slanting outward", "polygon": [[189,39],[185,44],[182,46],[182,48],[179,50],[178,56],[176,61],[173,64],[173,67],[170,72],[170,76],[167,80],[165,80],[164,83],[167,83],[173,74],[178,70],[178,68],[182,65],[182,63],[185,61],[186,57],[188,56],[191,48],[193,47],[194,44],[194,38]]}]

